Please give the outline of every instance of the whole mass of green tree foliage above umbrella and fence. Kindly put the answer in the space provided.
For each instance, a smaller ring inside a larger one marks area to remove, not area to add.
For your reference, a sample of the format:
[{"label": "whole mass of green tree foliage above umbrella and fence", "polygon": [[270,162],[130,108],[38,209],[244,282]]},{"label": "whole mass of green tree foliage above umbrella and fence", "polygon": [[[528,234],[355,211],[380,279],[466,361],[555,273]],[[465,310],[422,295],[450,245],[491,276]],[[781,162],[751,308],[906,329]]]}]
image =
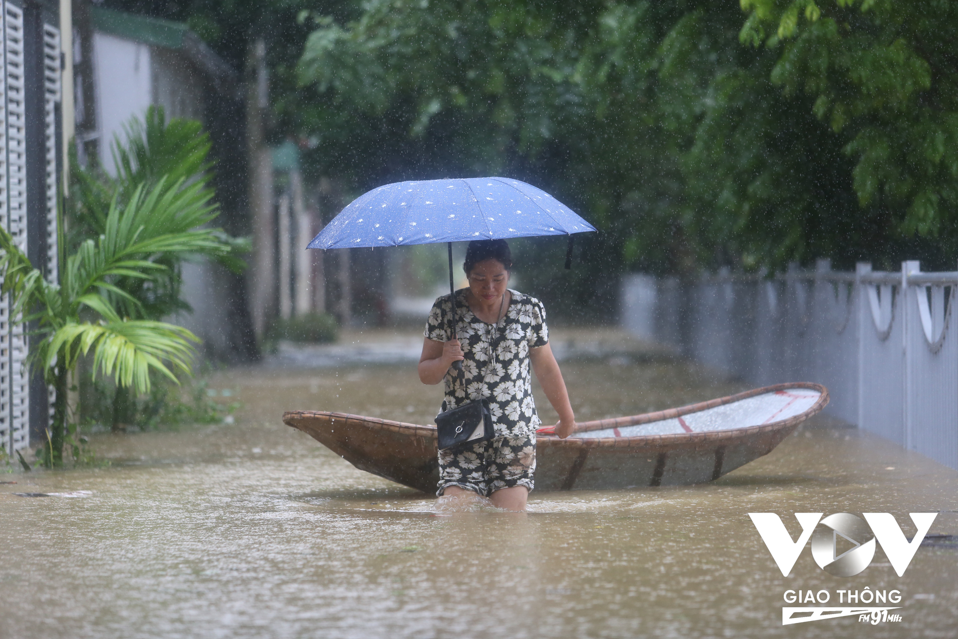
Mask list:
[{"label": "whole mass of green tree foliage above umbrella and fence", "polygon": [[313,161],[356,191],[533,181],[604,231],[586,240],[581,285],[616,262],[951,265],[947,2],[362,7],[349,22],[304,15],[299,69]]}]

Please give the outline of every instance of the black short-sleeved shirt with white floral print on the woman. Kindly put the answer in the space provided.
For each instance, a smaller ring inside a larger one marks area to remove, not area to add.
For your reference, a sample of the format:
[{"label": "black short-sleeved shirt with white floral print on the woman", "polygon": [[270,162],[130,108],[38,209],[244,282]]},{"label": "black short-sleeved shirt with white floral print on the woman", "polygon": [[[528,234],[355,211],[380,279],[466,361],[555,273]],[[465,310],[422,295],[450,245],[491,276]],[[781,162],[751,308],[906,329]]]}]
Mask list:
[{"label": "black short-sleeved shirt with white floral print on the woman", "polygon": [[[456,336],[466,357],[466,386],[464,389],[460,374],[450,367],[445,374],[445,410],[486,398],[496,435],[515,437],[535,432],[540,422],[533,399],[529,349],[549,343],[545,308],[535,297],[510,289],[512,302],[505,317],[493,327],[472,314],[466,291],[456,291]],[[425,336],[437,342],[448,341],[450,312],[449,296],[437,299],[429,313]],[[491,352],[493,343],[495,353]]]}]

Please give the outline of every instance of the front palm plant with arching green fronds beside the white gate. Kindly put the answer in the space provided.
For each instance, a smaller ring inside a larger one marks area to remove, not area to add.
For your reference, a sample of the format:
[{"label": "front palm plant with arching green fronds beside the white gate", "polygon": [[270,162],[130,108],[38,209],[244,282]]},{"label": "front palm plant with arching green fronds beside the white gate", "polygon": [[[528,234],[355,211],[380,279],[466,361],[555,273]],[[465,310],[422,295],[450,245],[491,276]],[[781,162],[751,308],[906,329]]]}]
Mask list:
[{"label": "front palm plant with arching green fronds beside the white gate", "polygon": [[193,343],[186,329],[144,319],[144,304],[119,282],[149,283],[170,265],[162,256],[225,255],[229,244],[217,229],[203,228],[217,215],[212,193],[201,182],[169,184],[160,178],[137,187],[125,204],[114,197],[103,217],[103,233],[80,242],[60,268],[60,282],[47,282],[10,234],[0,229],[0,277],[11,294],[11,318],[35,322],[32,365],[39,365],[56,391],[45,462],[62,463],[67,432],[67,380],[80,357],[91,353],[93,375],[112,376],[118,388],[148,392],[150,373],[176,381],[191,373]]}]

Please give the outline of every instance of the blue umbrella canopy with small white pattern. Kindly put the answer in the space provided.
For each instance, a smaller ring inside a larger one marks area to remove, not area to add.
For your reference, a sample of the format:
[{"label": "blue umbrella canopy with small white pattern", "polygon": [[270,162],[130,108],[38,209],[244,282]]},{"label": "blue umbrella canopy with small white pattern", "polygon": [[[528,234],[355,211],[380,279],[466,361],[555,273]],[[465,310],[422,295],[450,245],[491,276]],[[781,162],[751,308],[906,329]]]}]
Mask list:
[{"label": "blue umbrella canopy with small white pattern", "polygon": [[308,248],[404,246],[595,231],[550,194],[508,177],[395,182],[362,194]]}]

